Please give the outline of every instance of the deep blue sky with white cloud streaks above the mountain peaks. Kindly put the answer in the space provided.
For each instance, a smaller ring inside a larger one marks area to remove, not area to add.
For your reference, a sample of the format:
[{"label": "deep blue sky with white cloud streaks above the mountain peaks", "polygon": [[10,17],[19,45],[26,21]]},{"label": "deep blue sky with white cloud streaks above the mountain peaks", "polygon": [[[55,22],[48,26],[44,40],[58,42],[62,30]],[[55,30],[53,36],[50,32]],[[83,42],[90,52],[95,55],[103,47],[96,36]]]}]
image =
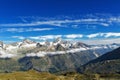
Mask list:
[{"label": "deep blue sky with white cloud streaks above the mountain peaks", "polygon": [[120,43],[120,0],[0,0],[0,41]]}]

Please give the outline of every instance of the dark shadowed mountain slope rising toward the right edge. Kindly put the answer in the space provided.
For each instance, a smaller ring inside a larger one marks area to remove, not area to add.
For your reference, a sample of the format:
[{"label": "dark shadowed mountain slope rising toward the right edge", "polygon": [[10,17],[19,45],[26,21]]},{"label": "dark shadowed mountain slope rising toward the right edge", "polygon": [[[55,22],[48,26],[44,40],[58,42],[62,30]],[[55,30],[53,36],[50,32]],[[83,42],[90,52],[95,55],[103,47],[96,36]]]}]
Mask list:
[{"label": "dark shadowed mountain slope rising toward the right edge", "polygon": [[120,73],[120,47],[85,64],[85,73]]}]

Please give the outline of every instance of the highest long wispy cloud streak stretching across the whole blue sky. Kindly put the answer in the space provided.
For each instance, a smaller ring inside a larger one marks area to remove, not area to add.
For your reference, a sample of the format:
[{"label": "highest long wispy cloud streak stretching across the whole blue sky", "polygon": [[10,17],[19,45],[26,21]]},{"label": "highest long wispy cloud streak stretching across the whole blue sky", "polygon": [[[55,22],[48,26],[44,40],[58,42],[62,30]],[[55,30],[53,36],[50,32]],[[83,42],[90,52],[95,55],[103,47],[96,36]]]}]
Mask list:
[{"label": "highest long wispy cloud streak stretching across the whole blue sky", "polygon": [[[37,19],[37,18],[36,18]],[[24,21],[24,22],[23,22]],[[79,18],[79,19],[49,19],[49,20],[31,20],[27,21],[22,19],[22,22],[18,23],[6,23],[0,24],[1,27],[27,27],[27,26],[41,26],[51,25],[58,27],[77,27],[78,25],[101,25],[109,26],[113,23],[120,23],[120,17],[110,16],[108,18],[94,17],[94,18]]]}]

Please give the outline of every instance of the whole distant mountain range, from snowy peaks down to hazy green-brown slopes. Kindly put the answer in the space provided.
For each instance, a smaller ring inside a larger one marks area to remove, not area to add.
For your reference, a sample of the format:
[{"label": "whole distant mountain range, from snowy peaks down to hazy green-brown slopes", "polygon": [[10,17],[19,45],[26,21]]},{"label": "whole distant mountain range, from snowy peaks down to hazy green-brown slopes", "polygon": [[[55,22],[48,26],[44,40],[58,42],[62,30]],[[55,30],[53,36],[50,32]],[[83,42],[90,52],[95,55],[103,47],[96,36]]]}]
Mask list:
[{"label": "whole distant mountain range, from snowy peaks down to hazy green-brown slopes", "polygon": [[31,68],[49,72],[72,70],[119,46],[87,45],[61,38],[53,42],[35,42],[29,39],[11,44],[0,42],[0,72]]}]

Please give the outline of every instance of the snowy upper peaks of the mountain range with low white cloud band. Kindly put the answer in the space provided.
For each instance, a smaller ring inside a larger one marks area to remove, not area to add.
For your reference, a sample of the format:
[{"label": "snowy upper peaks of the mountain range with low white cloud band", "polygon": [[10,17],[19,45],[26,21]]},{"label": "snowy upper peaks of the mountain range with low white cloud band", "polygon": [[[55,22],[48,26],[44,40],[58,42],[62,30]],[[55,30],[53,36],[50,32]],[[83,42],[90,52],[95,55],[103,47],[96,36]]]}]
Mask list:
[{"label": "snowy upper peaks of the mountain range with low white cloud band", "polygon": [[21,42],[11,44],[0,42],[0,58],[19,58],[24,56],[44,57],[45,55],[76,53],[87,50],[94,51],[93,54],[99,57],[119,46],[120,44],[116,43],[109,45],[87,45],[82,42],[64,41],[61,38],[57,38],[53,42],[35,42],[25,39]]}]

